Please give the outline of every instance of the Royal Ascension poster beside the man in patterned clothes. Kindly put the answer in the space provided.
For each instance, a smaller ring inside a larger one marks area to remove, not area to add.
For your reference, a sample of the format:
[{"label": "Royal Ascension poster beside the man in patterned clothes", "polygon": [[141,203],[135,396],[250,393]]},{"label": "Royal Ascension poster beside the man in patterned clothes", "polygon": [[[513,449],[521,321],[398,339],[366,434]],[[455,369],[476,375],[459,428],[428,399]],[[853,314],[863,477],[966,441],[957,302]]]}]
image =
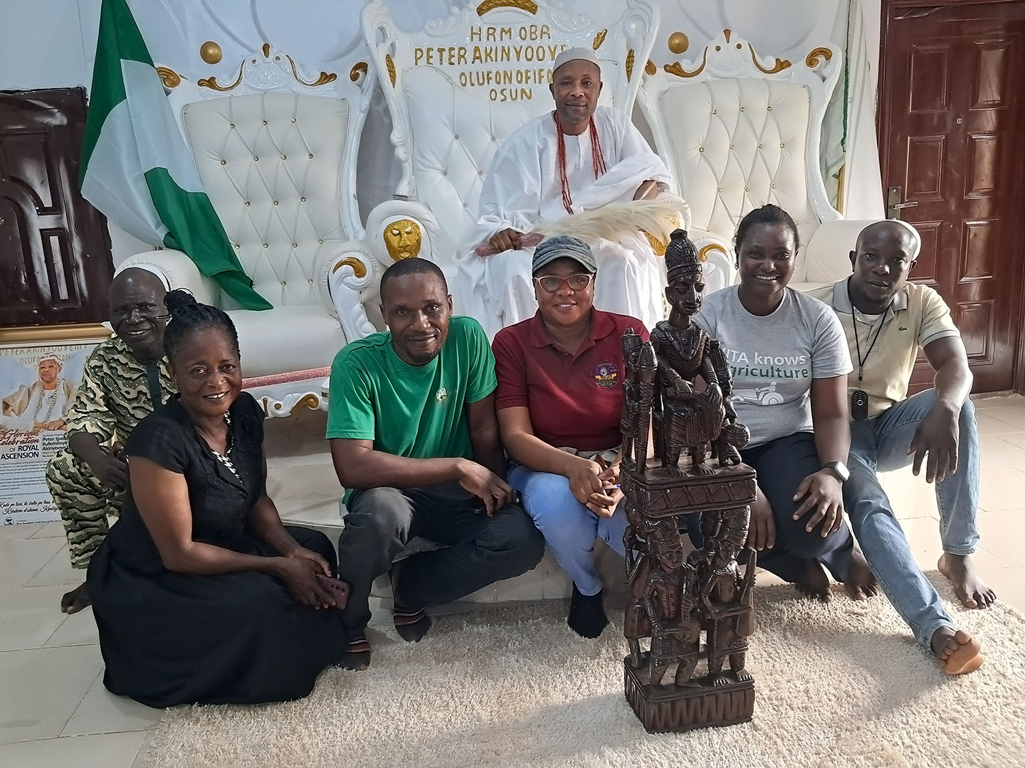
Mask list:
[{"label": "Royal Ascension poster beside the man in patterned clothes", "polygon": [[68,446],[65,418],[100,341],[0,343],[0,524],[59,520],[46,463]]}]

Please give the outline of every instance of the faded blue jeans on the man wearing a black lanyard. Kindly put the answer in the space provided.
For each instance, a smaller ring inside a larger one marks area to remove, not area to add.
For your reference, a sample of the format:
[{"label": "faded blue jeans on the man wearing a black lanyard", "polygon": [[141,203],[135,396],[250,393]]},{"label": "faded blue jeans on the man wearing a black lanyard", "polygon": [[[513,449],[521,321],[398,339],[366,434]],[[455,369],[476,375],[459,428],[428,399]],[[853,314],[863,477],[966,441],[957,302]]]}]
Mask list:
[{"label": "faded blue jeans on the man wearing a black lanyard", "polygon": [[[915,564],[875,472],[911,463],[913,457],[907,450],[914,430],[935,403],[936,391],[930,389],[871,419],[853,422],[851,479],[844,485],[844,506],[865,559],[894,608],[927,648],[936,630],[952,629],[953,623],[936,589]],[[958,425],[957,472],[936,483],[936,501],[944,552],[968,555],[979,544],[979,433],[971,400],[961,407]]]}]

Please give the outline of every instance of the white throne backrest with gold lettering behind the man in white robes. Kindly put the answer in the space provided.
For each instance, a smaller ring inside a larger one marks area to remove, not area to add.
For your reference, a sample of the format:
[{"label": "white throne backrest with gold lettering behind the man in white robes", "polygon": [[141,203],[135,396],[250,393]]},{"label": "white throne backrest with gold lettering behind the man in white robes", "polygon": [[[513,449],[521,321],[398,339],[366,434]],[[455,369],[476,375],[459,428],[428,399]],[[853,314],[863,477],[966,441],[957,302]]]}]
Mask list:
[{"label": "white throne backrest with gold lettering behind the man in white robes", "polygon": [[405,32],[374,0],[362,17],[402,166],[395,210],[411,222],[437,218],[435,260],[459,312],[471,306],[474,287],[459,284],[455,257],[478,245],[470,239],[491,159],[517,129],[554,109],[555,56],[563,47],[592,48],[605,84],[600,103],[630,114],[658,8],[651,0],[626,0],[604,17],[555,3],[487,0]]}]

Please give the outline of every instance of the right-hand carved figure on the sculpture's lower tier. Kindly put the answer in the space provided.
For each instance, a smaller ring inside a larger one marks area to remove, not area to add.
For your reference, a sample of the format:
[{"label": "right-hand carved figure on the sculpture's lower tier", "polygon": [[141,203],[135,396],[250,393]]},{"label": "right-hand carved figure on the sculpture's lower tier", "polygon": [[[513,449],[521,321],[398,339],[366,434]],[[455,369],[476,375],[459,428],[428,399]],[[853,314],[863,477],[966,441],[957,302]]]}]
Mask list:
[{"label": "right-hand carved figure on the sculpture's lower tier", "polygon": [[[754,632],[754,567],[756,553],[750,552],[743,574],[737,565],[737,555],[747,541],[750,507],[738,507],[709,513],[705,520],[707,541],[707,572],[700,577],[700,599],[707,622],[708,676],[714,685],[748,682],[751,675],[744,669],[748,648],[747,638]],[[727,657],[729,675],[723,673]]]}]

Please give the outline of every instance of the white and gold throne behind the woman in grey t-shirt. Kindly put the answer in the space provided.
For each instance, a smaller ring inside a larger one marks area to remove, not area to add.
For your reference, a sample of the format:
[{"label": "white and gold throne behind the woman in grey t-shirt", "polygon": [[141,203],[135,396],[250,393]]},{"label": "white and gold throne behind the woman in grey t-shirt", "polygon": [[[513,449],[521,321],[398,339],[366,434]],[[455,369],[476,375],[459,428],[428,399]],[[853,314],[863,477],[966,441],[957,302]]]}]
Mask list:
[{"label": "white and gold throne behind the woman in grey t-shirt", "polygon": [[792,288],[850,273],[852,222],[830,204],[820,161],[822,123],[843,71],[834,45],[790,61],[758,55],[730,30],[693,59],[648,68],[639,100],[656,151],[690,204],[693,226],[728,244],[731,269],[740,219],[773,203],[801,236]]}]

